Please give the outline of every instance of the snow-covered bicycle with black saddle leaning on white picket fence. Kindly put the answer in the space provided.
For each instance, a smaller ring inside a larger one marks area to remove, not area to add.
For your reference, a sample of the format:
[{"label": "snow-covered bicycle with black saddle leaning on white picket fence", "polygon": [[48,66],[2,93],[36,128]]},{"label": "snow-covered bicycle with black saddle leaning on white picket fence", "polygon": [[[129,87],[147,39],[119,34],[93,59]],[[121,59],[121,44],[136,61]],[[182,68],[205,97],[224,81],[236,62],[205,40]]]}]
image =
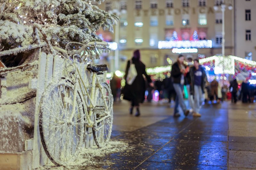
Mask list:
[{"label": "snow-covered bicycle with black saddle leaning on white picket fence", "polygon": [[[40,32],[48,41],[45,33]],[[64,56],[66,74],[59,80],[53,80],[42,94],[39,131],[48,158],[58,166],[65,166],[78,156],[88,128],[92,128],[94,141],[99,148],[110,139],[113,96],[104,77],[107,65],[87,65],[89,80],[86,81],[91,83],[89,86],[77,67],[79,55],[85,48],[108,43],[87,41],[79,50],[72,51],[47,44],[52,52],[56,50]]]}]

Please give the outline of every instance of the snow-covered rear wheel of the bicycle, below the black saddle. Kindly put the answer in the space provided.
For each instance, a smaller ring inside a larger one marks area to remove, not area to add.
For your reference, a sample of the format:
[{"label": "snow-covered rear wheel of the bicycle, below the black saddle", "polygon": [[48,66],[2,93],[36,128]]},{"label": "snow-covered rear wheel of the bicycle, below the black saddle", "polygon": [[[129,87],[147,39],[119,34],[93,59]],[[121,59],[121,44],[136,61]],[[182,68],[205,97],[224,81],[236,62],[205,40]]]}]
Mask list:
[{"label": "snow-covered rear wheel of the bicycle, below the black saddle", "polygon": [[96,96],[96,106],[105,107],[104,100],[107,103],[108,111],[105,110],[94,113],[94,127],[92,128],[92,133],[96,145],[101,148],[108,144],[108,141],[112,132],[113,124],[113,95],[111,93],[110,87],[107,83],[102,83],[102,91],[96,88],[95,92],[99,91]]}]

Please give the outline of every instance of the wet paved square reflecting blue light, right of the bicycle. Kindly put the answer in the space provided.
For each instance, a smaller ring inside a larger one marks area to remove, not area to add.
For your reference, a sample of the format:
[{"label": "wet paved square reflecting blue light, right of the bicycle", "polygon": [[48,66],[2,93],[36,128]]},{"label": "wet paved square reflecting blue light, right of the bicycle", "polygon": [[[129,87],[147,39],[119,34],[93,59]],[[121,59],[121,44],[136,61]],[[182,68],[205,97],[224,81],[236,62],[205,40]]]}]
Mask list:
[{"label": "wet paved square reflecting blue light, right of the bicycle", "polygon": [[207,104],[201,118],[173,118],[166,103],[143,104],[140,117],[128,109],[127,102],[114,105],[112,140],[129,149],[105,155],[91,168],[256,169],[255,104]]}]

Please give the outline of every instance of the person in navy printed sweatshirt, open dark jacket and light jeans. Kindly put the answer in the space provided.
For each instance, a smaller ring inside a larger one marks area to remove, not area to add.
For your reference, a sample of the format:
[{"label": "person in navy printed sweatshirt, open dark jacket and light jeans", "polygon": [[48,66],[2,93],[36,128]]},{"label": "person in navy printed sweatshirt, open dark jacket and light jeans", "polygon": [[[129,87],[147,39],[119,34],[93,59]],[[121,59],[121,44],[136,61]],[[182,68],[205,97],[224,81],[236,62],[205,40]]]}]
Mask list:
[{"label": "person in navy printed sweatshirt, open dark jacket and light jeans", "polygon": [[205,88],[206,73],[204,68],[199,64],[198,59],[194,60],[194,66],[190,68],[190,93],[194,96],[193,116],[201,117],[199,113],[202,106],[202,99]]}]

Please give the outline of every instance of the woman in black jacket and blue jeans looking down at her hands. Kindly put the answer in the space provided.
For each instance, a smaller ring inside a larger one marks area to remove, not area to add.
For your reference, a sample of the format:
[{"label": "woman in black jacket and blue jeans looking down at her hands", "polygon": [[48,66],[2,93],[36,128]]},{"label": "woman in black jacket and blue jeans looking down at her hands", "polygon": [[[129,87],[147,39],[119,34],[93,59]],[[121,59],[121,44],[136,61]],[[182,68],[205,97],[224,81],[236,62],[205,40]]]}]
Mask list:
[{"label": "woman in black jacket and blue jeans looking down at her hands", "polygon": [[184,90],[184,74],[186,71],[186,65],[183,63],[184,62],[184,56],[179,55],[177,58],[177,62],[175,62],[172,65],[172,71],[171,71],[171,76],[173,78],[173,87],[176,92],[176,98],[175,98],[175,106],[174,106],[174,117],[179,117],[179,104],[180,107],[183,110],[183,113],[185,116],[189,114],[189,110],[187,109],[184,100],[183,100],[183,90]]}]

